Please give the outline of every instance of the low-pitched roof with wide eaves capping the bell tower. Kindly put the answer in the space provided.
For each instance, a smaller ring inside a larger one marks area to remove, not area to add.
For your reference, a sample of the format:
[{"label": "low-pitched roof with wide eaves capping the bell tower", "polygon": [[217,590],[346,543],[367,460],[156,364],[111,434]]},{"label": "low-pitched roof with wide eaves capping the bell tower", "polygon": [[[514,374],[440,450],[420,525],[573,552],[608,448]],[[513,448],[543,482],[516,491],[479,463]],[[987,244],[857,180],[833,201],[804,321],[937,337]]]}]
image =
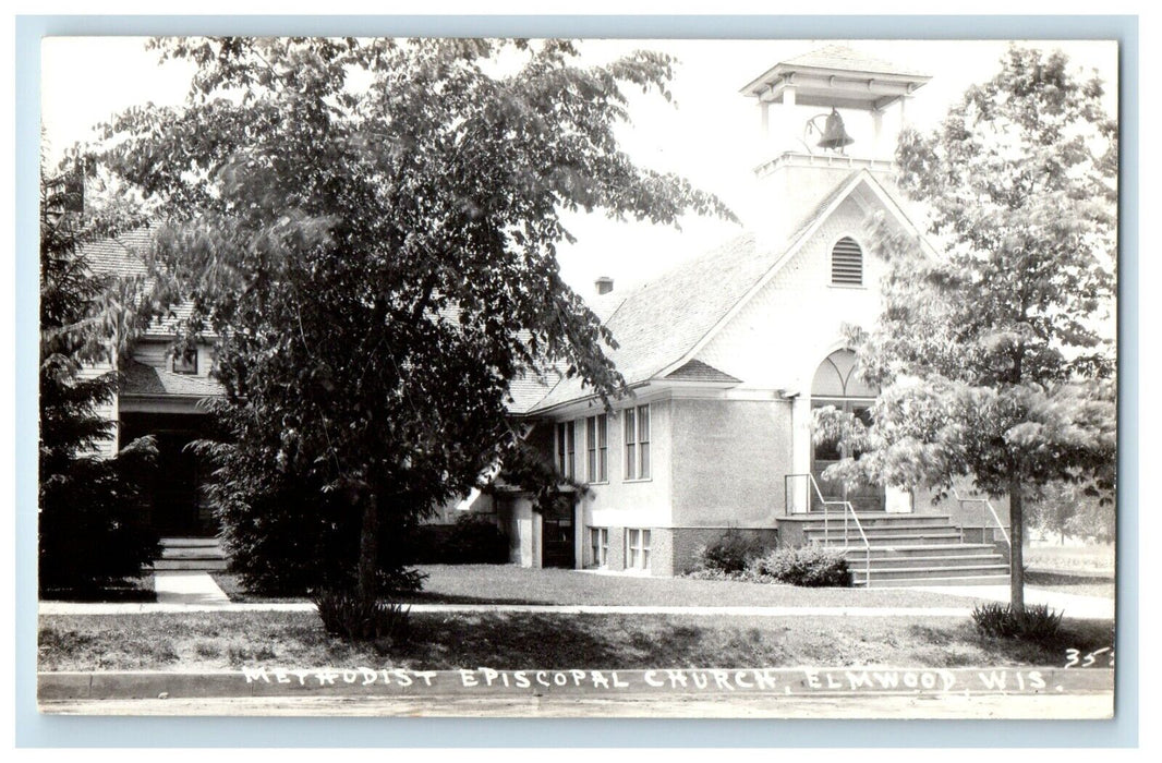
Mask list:
[{"label": "low-pitched roof with wide eaves capping the bell tower", "polygon": [[834,44],[780,62],[739,92],[775,101],[794,88],[796,102],[803,106],[877,110],[930,79],[927,74]]}]

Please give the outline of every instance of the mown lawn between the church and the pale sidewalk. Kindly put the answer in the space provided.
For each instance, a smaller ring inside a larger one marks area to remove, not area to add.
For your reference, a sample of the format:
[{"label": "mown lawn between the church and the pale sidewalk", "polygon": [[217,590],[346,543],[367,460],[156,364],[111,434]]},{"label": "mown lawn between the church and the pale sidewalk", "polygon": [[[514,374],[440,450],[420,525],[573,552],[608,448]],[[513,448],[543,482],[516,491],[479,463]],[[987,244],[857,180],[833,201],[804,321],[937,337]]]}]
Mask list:
[{"label": "mown lawn between the church and the pale sidewalk", "polygon": [[[906,589],[806,589],[739,581],[629,577],[510,564],[429,564],[413,603],[562,604],[608,606],[969,606],[976,599]],[[232,600],[270,600],[248,593],[232,575],[215,575]]]}]

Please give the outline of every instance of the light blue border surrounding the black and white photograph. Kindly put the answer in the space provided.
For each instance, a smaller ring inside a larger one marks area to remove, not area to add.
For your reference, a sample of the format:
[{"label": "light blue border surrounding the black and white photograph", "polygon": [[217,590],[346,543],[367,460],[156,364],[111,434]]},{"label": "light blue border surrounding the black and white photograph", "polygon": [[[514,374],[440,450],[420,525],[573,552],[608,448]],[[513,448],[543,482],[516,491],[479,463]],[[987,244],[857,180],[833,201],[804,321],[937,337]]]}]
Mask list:
[{"label": "light blue border surrounding the black and white photograph", "polygon": [[[36,712],[40,39],[45,35],[1117,39],[1121,44],[1118,688],[1113,721],[65,718]],[[20,747],[1132,747],[1138,744],[1136,16],[17,16],[16,743]]]}]

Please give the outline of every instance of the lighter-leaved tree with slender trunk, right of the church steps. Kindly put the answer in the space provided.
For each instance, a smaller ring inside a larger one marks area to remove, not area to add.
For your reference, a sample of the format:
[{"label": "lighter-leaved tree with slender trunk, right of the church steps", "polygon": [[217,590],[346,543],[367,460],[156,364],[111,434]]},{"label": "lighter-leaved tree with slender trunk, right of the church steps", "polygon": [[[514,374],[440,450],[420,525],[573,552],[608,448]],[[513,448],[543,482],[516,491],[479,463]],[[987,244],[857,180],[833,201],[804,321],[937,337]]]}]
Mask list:
[{"label": "lighter-leaved tree with slender trunk, right of the church steps", "polygon": [[855,338],[884,391],[870,427],[820,417],[862,454],[837,476],[1007,496],[1018,609],[1026,501],[1113,485],[1117,128],[1102,94],[1064,56],[1012,48],[937,130],[901,137],[901,188],[944,251],[880,225],[883,312]]}]

